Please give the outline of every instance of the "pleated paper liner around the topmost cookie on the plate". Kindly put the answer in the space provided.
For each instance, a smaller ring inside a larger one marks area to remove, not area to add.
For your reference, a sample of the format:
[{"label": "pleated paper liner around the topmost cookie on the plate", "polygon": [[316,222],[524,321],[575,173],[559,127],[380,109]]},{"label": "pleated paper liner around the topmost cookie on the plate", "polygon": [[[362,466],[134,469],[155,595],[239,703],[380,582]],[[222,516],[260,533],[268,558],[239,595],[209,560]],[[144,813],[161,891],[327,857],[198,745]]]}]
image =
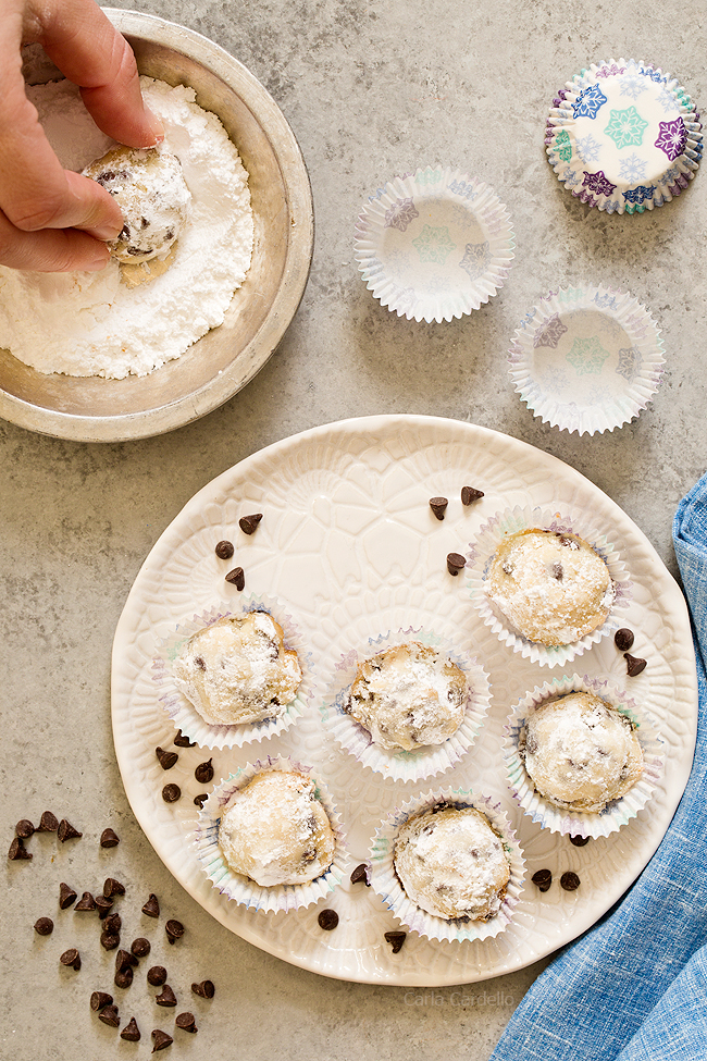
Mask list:
[{"label": "pleated paper liner around the topmost cookie on the plate", "polygon": [[[486,593],[486,579],[503,539],[507,534],[535,527],[560,534],[576,534],[583,539],[604,559],[613,580],[613,605],[606,620],[596,630],[570,644],[544,645],[530,641],[510,626],[508,619],[494,607]],[[603,638],[613,633],[621,624],[618,613],[628,607],[632,596],[631,582],[616,547],[601,531],[592,526],[586,513],[581,511],[523,508],[517,505],[514,508],[497,513],[480,529],[476,540],[472,542],[466,575],[471,588],[472,604],[486,626],[491,627],[499,640],[513,652],[519,652],[526,659],[538,663],[542,667],[563,667],[592,645],[598,644]]]}]

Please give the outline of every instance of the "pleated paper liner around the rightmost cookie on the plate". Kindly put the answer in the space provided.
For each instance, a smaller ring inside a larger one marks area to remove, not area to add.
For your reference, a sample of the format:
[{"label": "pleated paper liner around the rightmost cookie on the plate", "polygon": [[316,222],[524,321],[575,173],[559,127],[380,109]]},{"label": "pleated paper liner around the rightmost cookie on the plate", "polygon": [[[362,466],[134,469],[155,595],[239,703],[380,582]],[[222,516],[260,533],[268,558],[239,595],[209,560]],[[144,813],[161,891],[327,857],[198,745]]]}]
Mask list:
[{"label": "pleated paper liner around the rightmost cookie on the plate", "polygon": [[[543,703],[556,700],[570,692],[588,692],[606,701],[631,719],[643,751],[644,769],[642,776],[620,800],[613,800],[598,814],[582,811],[562,810],[548,803],[533,786],[525,772],[520,752],[520,740],[526,718]],[[593,837],[610,836],[634,818],[652,799],[663,767],[663,742],[658,727],[650,714],[632,700],[628,693],[610,678],[580,677],[574,674],[555,678],[536,686],[533,692],[523,696],[512,708],[504,729],[504,762],[513,799],[533,822],[550,832],[562,836]]]}]

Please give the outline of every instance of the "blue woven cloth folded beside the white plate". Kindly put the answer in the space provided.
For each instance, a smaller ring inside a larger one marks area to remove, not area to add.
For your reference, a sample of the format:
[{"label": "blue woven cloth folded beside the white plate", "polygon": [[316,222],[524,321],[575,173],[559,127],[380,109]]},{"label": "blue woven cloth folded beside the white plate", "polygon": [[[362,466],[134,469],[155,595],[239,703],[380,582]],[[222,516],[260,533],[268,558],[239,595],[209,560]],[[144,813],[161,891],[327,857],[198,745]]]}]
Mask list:
[{"label": "blue woven cloth folded beside the white plate", "polygon": [[491,1061],[707,1059],[707,474],[678,508],[673,543],[699,684],[687,787],[638,879],[535,980]]}]

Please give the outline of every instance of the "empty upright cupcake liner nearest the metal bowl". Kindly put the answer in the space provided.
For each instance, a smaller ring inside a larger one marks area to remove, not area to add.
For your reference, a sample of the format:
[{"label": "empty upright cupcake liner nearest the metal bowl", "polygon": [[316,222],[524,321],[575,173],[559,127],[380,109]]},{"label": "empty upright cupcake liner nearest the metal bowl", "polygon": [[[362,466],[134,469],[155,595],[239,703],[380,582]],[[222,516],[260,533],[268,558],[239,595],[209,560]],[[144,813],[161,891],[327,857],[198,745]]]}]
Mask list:
[{"label": "empty upright cupcake liner nearest the metal bowl", "polygon": [[359,271],[382,306],[408,320],[451,321],[508,277],[516,239],[493,188],[449,166],[396,176],[356,225]]}]

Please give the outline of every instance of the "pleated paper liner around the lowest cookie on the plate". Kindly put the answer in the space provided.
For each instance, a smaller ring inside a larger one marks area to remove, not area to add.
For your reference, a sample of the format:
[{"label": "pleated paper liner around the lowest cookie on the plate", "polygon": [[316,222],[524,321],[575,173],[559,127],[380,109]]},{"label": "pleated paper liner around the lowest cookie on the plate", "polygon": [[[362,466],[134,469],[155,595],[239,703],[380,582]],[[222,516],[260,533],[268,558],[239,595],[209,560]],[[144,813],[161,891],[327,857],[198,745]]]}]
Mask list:
[{"label": "pleated paper liner around the lowest cookie on the plate", "polygon": [[[473,806],[486,815],[492,827],[503,841],[510,862],[510,879],[506,887],[500,910],[488,921],[447,921],[421,910],[402,889],[395,869],[395,841],[400,827],[421,811],[436,803],[454,803],[459,806]],[[393,915],[406,928],[426,936],[429,939],[454,940],[489,939],[498,936],[510,924],[519,896],[523,890],[525,859],[516,834],[511,828],[500,803],[489,797],[475,795],[469,790],[446,788],[436,792],[417,795],[393,811],[376,830],[371,844],[371,886],[381,897]]]}]

